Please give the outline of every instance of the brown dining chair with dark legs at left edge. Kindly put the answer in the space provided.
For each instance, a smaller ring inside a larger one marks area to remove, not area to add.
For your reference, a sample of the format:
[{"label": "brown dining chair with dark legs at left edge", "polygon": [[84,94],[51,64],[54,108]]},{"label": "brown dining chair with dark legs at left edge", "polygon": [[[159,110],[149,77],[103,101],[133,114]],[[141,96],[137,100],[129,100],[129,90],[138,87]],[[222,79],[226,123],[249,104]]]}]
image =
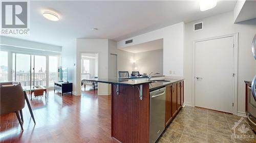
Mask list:
[{"label": "brown dining chair with dark legs at left edge", "polygon": [[[22,85],[3,87],[3,85],[7,85],[6,83],[0,83],[0,114],[15,112],[19,125],[23,130],[22,109],[25,107],[25,99]],[[9,82],[9,84],[11,85],[12,82]],[[20,112],[21,121],[18,111]]]}]

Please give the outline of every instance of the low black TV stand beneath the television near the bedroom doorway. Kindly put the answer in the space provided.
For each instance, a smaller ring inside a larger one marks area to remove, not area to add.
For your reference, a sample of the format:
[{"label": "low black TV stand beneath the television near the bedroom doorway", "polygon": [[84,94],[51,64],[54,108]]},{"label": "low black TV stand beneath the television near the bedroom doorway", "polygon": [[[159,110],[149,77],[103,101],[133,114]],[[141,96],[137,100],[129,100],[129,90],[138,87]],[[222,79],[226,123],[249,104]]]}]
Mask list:
[{"label": "low black TV stand beneath the television near the bedroom doorway", "polygon": [[71,82],[65,83],[65,82],[54,82],[54,92],[58,91],[61,93],[61,96],[63,93],[71,92],[73,91],[73,84]]}]

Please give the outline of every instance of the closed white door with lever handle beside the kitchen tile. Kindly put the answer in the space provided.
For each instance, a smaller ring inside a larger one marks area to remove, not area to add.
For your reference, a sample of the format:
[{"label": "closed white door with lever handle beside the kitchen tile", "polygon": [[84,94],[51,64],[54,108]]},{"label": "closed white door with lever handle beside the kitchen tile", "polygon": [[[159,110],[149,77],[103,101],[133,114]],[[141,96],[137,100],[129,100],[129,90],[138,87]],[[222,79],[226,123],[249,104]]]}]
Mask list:
[{"label": "closed white door with lever handle beside the kitchen tile", "polygon": [[233,37],[195,43],[195,105],[233,113]]}]

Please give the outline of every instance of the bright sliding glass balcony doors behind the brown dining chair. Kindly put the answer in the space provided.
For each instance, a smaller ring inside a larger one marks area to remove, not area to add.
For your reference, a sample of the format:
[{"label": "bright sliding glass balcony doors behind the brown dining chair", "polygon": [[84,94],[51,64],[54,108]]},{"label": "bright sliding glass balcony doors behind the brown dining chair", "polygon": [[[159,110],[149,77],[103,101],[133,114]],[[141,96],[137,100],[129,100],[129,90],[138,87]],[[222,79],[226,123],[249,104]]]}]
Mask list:
[{"label": "bright sliding glass balcony doors behind the brown dining chair", "polygon": [[[1,82],[19,81],[23,86],[53,87],[58,81],[58,56],[11,53],[1,51]],[[10,62],[8,62],[8,60]],[[10,72],[8,72],[8,67]],[[10,76],[8,76],[10,74]]]}]

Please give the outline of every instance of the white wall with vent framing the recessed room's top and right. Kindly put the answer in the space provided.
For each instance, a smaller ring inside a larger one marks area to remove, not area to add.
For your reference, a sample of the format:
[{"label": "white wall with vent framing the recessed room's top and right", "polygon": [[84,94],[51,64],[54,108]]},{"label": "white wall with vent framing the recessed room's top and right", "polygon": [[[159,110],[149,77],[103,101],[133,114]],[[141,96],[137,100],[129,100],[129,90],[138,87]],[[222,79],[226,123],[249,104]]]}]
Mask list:
[{"label": "white wall with vent framing the recessed room's top and right", "polygon": [[[163,74],[166,76],[183,76],[183,41],[184,23],[180,22],[159,30],[138,35],[117,42],[118,49],[163,38]],[[125,41],[133,39],[133,43]],[[172,74],[169,73],[172,71]]]}]

